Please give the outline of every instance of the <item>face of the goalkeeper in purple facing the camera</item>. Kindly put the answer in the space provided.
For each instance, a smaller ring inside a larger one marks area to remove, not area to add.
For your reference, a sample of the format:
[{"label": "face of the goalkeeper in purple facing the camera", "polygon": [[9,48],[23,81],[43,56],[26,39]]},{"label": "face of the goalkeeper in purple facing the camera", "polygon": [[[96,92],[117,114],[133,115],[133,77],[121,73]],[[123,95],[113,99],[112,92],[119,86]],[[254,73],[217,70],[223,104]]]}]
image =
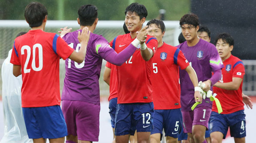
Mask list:
[{"label": "face of the goalkeeper in purple facing the camera", "polygon": [[197,38],[197,31],[199,26],[193,26],[191,24],[183,24],[181,26],[182,35],[186,41],[194,41]]}]

